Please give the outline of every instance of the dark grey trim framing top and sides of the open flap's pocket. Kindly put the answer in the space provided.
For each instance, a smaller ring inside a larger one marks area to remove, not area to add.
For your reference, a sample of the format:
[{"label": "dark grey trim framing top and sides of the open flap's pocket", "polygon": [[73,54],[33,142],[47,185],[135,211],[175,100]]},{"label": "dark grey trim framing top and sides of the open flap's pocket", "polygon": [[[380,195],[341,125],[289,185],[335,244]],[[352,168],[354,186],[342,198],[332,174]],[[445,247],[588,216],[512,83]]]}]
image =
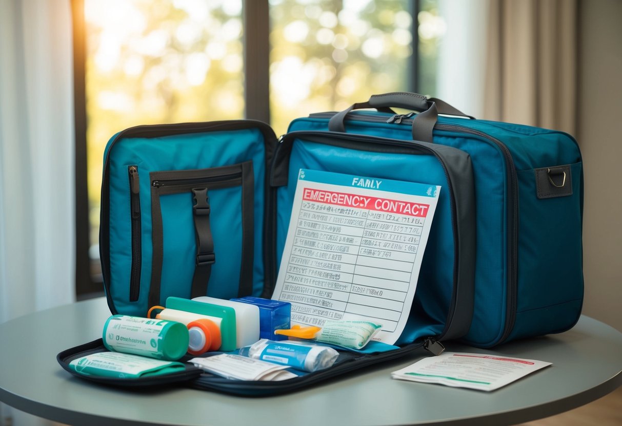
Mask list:
[{"label": "dark grey trim framing top and sides of the open flap's pocket", "polygon": [[[152,217],[152,272],[149,286],[149,306],[160,305],[160,281],[164,262],[164,231],[160,196],[179,194],[197,186],[209,189],[241,186],[242,247],[238,294],[246,296],[253,291],[254,257],[254,174],[253,161],[235,165],[200,170],[152,171],[151,217]],[[214,207],[218,209],[218,206]]]}]

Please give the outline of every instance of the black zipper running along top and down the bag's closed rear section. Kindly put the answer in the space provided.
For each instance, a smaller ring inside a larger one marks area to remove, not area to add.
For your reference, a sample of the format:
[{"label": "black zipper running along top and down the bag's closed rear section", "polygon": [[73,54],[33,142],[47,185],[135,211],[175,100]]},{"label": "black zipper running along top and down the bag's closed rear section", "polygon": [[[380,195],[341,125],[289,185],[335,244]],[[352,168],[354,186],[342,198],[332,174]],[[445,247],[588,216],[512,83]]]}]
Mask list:
[{"label": "black zipper running along top and down the bag's closed rear section", "polygon": [[[318,112],[316,114],[310,114],[310,118],[318,119],[330,119],[336,112]],[[356,118],[346,118],[346,120],[357,120],[367,122],[384,122],[389,124],[404,124],[412,125],[413,119],[410,118],[412,113],[402,115],[395,114],[394,116],[386,119],[383,116],[373,116],[371,114],[353,114]],[[414,114],[412,114],[414,115]],[[449,124],[437,124],[434,126],[437,130],[447,130],[448,132],[460,132],[471,135],[476,135],[481,138],[485,138],[490,142],[493,142],[499,150],[503,153],[503,156],[508,166],[508,190],[511,199],[511,208],[508,209],[508,223],[512,224],[512,233],[508,238],[508,258],[509,258],[509,272],[508,272],[508,297],[506,299],[506,309],[508,315],[506,315],[506,321],[504,324],[503,335],[495,342],[496,344],[504,342],[511,333],[514,322],[516,321],[516,293],[518,287],[518,178],[516,176],[516,166],[514,166],[514,160],[512,154],[509,152],[508,147],[500,140],[491,137],[488,134],[480,132],[478,130],[469,129],[459,125]]]}]

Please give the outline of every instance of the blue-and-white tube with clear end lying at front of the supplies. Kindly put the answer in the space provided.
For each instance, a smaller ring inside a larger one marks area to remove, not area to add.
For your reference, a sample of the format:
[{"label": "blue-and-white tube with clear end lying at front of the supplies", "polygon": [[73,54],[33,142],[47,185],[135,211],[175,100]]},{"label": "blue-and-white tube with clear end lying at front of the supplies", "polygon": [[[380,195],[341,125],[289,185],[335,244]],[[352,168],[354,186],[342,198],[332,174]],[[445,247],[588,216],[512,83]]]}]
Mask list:
[{"label": "blue-and-white tube with clear end lying at front of the supplies", "polygon": [[239,355],[312,373],[332,366],[339,353],[333,348],[312,343],[274,342],[262,338],[251,346],[241,348]]}]

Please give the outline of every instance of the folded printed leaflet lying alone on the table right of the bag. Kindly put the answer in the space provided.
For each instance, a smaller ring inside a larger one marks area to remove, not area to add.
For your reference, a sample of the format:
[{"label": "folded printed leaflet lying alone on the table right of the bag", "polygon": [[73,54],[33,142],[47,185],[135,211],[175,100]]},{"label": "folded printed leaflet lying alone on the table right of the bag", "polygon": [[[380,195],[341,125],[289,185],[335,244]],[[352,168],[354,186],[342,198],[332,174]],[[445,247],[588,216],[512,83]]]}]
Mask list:
[{"label": "folded printed leaflet lying alone on the table right of the bag", "polygon": [[399,380],[494,391],[551,365],[545,361],[480,353],[445,352],[391,373]]}]

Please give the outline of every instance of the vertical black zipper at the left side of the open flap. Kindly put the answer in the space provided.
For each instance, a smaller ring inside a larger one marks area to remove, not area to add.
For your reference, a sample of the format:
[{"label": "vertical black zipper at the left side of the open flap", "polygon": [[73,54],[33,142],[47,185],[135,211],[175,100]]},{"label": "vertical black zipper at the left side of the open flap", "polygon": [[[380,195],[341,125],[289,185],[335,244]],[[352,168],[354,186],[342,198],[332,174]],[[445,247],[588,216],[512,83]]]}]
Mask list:
[{"label": "vertical black zipper at the left side of the open flap", "polygon": [[132,266],[129,272],[129,301],[136,302],[141,290],[141,196],[138,166],[128,166],[129,204],[132,224]]}]

